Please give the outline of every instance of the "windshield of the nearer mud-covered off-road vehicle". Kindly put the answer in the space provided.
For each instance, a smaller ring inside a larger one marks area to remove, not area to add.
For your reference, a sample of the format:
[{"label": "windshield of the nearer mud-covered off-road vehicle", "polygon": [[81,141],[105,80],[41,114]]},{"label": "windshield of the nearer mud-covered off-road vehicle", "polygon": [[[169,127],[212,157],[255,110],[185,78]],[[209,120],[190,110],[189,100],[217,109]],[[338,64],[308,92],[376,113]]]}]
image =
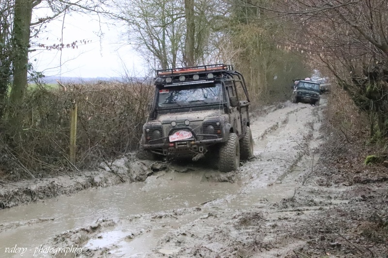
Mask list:
[{"label": "windshield of the nearer mud-covered off-road vehicle", "polygon": [[159,107],[216,104],[223,102],[220,83],[185,86],[159,91]]}]

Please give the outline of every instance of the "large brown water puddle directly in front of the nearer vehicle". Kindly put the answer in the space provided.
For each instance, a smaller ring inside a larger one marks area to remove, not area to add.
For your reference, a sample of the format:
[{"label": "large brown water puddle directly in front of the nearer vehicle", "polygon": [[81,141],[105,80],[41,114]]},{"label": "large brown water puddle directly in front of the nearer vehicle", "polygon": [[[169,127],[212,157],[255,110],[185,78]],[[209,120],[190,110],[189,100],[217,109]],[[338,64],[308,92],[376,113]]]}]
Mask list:
[{"label": "large brown water puddle directly in front of the nearer vehicle", "polygon": [[[157,177],[151,176],[146,182],[91,189],[70,197],[2,210],[1,223],[15,223],[16,226],[0,232],[1,246],[17,244],[35,248],[65,230],[91,225],[97,219],[115,220],[131,214],[196,207],[208,200],[234,194],[239,189],[236,183],[202,182],[203,172],[197,171],[165,173]],[[36,218],[53,220],[17,225]]]}]

